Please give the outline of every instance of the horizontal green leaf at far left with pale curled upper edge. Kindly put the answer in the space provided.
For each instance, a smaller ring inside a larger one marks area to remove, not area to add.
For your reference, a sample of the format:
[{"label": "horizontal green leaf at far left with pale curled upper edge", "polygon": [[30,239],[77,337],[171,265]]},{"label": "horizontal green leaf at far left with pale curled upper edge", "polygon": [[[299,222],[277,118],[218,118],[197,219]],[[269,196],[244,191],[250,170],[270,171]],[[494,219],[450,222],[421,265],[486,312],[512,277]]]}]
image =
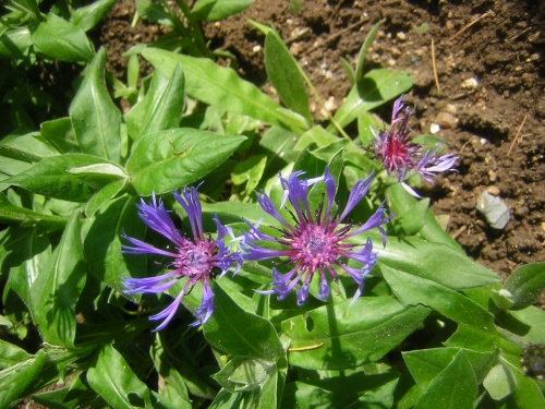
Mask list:
[{"label": "horizontal green leaf at far left with pale curled upper edge", "polygon": [[[78,169],[96,165],[119,168],[96,156],[66,154],[44,159],[31,169],[5,179],[3,182],[46,197],[86,202],[96,190],[118,179],[118,176],[104,173],[77,173]],[[120,171],[122,172],[121,169]]]}]

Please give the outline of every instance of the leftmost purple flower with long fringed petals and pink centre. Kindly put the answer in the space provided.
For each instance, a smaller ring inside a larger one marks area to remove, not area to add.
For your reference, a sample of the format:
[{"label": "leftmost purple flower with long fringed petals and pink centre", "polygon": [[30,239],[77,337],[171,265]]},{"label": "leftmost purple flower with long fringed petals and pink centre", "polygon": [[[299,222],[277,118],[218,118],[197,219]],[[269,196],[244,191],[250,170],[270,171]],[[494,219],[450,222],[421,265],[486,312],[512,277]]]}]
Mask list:
[{"label": "leftmost purple flower with long fringed petals and pink centre", "polygon": [[122,245],[123,253],[126,254],[157,254],[171,257],[168,264],[173,269],[167,274],[148,278],[124,278],[123,285],[126,294],[135,293],[160,293],[172,287],[177,280],[186,278],[182,291],[178,294],[174,302],[158,314],[152,315],[149,320],[162,320],[162,323],[155,329],[160,330],[172,320],[180,305],[181,299],[187,294],[197,281],[201,281],[203,289],[203,300],[201,306],[195,312],[197,321],[190,326],[204,324],[214,310],[214,292],[210,288],[210,279],[220,277],[227,273],[231,265],[235,264],[237,269],[242,263],[242,255],[239,252],[231,252],[230,246],[226,246],[223,237],[230,230],[221,225],[217,217],[214,218],[218,228],[217,239],[214,240],[208,234],[205,237],[202,224],[202,207],[198,201],[198,193],[195,188],[185,187],[179,194],[173,193],[174,199],[183,207],[190,219],[193,238],[183,237],[175,228],[165,205],[160,199],[157,202],[155,194],[152,196],[152,203],[147,204],[142,200],[138,207],[138,216],[144,222],[169,239],[175,246],[175,250],[160,250],[147,244],[138,239],[123,236],[124,239],[133,245]]}]

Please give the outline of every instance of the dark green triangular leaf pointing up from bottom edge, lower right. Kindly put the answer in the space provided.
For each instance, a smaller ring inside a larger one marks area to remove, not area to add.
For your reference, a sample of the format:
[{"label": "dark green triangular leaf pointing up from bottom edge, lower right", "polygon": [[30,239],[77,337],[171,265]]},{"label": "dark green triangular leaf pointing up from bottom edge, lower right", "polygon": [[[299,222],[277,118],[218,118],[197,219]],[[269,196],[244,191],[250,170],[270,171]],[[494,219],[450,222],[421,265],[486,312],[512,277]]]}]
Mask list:
[{"label": "dark green triangular leaf pointing up from bottom edge, lower right", "polygon": [[419,399],[415,409],[436,408],[472,408],[479,385],[471,363],[463,350],[460,350],[452,362],[431,383]]}]

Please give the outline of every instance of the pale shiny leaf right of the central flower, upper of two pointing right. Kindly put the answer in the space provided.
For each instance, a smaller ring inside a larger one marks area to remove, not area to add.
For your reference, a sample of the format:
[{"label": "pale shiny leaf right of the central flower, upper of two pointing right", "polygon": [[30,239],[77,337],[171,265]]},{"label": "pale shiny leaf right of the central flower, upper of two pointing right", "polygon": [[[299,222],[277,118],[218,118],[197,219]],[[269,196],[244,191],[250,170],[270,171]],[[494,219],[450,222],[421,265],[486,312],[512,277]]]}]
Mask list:
[{"label": "pale shiny leaf right of the central flower, upper of two pointing right", "polygon": [[[374,243],[379,236],[371,231]],[[364,238],[360,239],[363,240]],[[438,282],[453,290],[463,290],[499,282],[494,272],[481,266],[464,254],[439,243],[416,237],[388,238],[386,246],[377,245],[378,264]]]}]

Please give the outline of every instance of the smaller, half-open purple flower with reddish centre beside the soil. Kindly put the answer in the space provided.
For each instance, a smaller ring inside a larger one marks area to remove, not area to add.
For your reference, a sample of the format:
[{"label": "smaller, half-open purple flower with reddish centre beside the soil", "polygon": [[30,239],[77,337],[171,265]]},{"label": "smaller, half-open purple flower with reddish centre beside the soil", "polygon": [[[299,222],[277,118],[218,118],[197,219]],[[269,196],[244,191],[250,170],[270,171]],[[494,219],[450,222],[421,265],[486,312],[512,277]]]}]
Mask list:
[{"label": "smaller, half-open purple flower with reddish centre beside the soil", "polygon": [[438,156],[437,152],[426,151],[422,145],[411,142],[408,128],[411,110],[407,108],[402,116],[399,116],[404,107],[403,98],[404,95],[401,95],[393,103],[390,129],[375,134],[375,155],[383,160],[388,173],[396,172],[397,179],[403,188],[413,196],[420,197],[412,188],[403,182],[407,173],[414,170],[433,183],[433,178],[437,173],[452,169],[458,157],[452,154]]}]

